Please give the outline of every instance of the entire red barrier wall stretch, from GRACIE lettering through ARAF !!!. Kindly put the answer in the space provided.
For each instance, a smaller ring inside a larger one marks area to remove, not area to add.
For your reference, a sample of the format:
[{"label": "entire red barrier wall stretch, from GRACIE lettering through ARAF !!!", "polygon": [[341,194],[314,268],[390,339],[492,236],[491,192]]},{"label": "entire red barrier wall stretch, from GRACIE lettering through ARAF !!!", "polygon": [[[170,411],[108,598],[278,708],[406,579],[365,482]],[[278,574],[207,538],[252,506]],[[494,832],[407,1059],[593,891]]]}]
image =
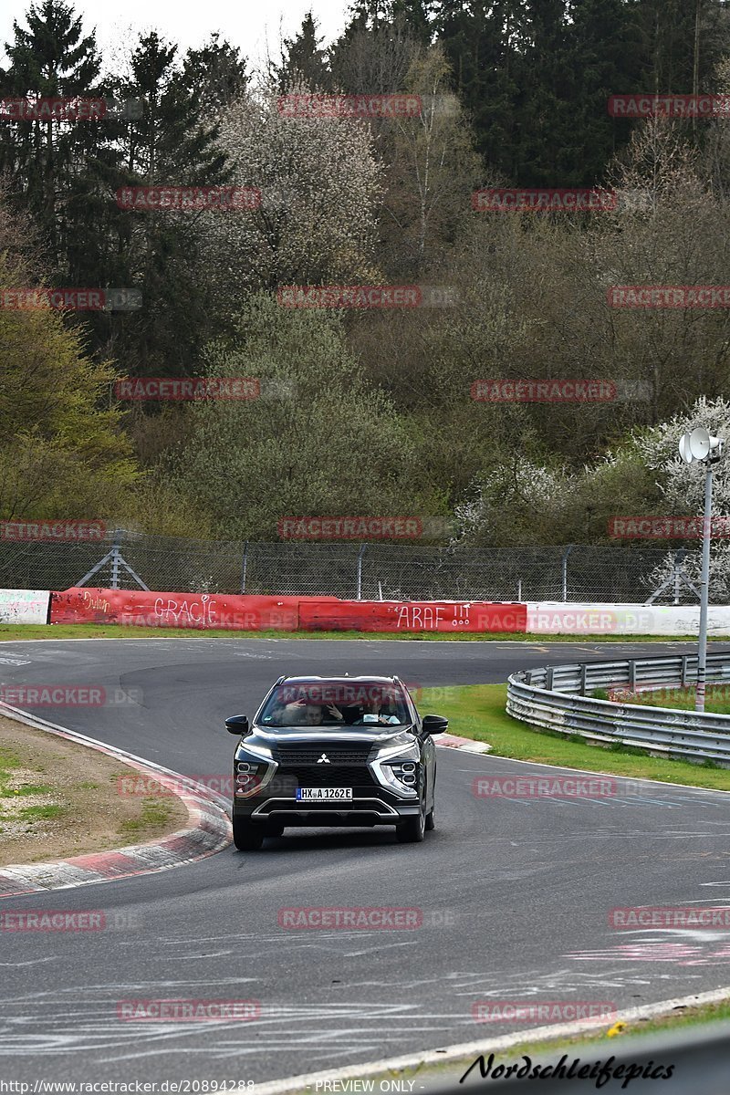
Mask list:
[{"label": "entire red barrier wall stretch, from GRACIE lettering through ARAF !!!", "polygon": [[486,601],[340,601],[336,597],[67,589],[50,596],[50,623],[112,623],[230,631],[524,632],[525,604]]}]

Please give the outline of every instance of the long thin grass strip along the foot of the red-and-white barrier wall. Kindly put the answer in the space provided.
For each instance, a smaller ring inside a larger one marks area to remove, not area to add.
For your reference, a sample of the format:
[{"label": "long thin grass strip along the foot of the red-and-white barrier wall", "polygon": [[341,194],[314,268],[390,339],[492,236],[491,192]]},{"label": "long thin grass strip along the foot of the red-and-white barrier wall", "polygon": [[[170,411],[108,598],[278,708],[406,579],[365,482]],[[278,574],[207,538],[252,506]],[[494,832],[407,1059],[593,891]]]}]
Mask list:
[{"label": "long thin grass strip along the foot of the red-and-white barrier wall", "polygon": [[224,631],[220,627],[134,627],[119,624],[0,624],[0,641],[18,638],[357,638],[421,643],[692,643],[696,635],[524,635],[517,632]]}]

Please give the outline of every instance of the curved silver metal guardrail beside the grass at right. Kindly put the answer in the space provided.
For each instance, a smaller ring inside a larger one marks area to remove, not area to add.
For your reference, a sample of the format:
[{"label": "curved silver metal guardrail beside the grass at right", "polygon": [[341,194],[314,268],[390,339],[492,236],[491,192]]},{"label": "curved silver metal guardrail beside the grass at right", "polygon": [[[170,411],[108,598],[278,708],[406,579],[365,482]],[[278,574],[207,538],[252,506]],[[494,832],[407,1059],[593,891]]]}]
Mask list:
[{"label": "curved silver metal guardrail beside the grass at right", "polygon": [[[685,688],[697,679],[696,655],[576,662],[512,673],[507,713],[532,726],[601,744],[621,741],[658,756],[730,768],[730,715],[616,703],[596,689],[629,692]],[[730,682],[730,652],[707,655],[707,683]]]}]

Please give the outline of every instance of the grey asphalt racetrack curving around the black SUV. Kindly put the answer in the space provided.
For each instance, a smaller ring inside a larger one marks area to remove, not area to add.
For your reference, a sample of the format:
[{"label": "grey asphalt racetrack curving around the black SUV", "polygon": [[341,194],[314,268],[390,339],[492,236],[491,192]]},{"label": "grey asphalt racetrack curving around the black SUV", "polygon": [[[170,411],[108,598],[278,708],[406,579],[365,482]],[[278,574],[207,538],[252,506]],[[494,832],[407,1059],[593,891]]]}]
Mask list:
[{"label": "grey asphalt racetrack curving around the black SUV", "polygon": [[[669,650],[680,644],[662,644]],[[652,644],[657,650],[660,644]],[[715,644],[715,648],[719,648]],[[132,703],[34,714],[187,775],[229,775],[223,719],[281,673],[503,681],[640,644],[323,639],[7,643],[5,683],[120,687]],[[686,647],[692,649],[692,647]],[[438,714],[438,710],[425,713]],[[601,753],[595,762],[600,768]],[[104,910],[102,932],[0,933],[8,1080],[263,1082],[509,1033],[478,1001],[651,1003],[730,984],[730,933],[616,931],[609,911],[730,898],[730,796],[645,784],[602,799],[477,798],[475,775],[545,769],[442,748],[437,829],[289,830],[137,878],[4,899]],[[290,930],[291,907],[418,908],[404,931]],[[253,1022],[125,1022],[128,1000],[256,1001]]]}]

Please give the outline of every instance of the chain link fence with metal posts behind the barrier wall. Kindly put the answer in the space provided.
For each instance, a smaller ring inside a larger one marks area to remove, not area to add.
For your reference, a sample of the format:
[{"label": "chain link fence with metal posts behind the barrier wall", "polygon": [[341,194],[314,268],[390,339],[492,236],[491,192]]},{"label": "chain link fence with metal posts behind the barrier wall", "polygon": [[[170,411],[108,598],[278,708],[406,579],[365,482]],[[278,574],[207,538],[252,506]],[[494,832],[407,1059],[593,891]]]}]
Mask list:
[{"label": "chain link fence with metal posts behind the barrier wall", "polygon": [[579,544],[477,551],[386,543],[243,543],[117,530],[93,542],[0,540],[0,588],[63,590],[85,585],[363,600],[652,599],[686,604],[698,600],[684,577],[696,554]]}]

